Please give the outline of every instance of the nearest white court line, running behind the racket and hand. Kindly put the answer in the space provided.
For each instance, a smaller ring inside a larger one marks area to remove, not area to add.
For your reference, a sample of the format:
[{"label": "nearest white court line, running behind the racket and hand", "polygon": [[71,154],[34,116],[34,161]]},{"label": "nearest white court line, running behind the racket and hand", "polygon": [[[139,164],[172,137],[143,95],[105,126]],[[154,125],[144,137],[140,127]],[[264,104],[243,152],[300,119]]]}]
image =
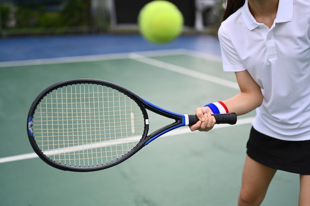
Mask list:
[{"label": "nearest white court line, running behind the racket and hand", "polygon": [[[238,120],[237,123],[234,124],[234,125],[230,125],[230,124],[216,124],[213,129],[223,128],[223,127],[228,127],[228,126],[250,124],[250,123],[252,123],[253,119],[254,118],[243,118],[243,119]],[[182,127],[182,128],[178,128],[178,129],[172,130],[172,131],[170,131],[168,133],[165,133],[161,137],[168,137],[168,136],[186,134],[186,133],[190,133],[190,132],[192,132],[192,131],[189,129],[189,127]],[[97,144],[99,144],[98,146],[102,146],[104,143],[97,143]],[[85,148],[88,148],[89,146],[86,145]],[[67,149],[70,149],[70,148],[67,148]],[[52,151],[51,152],[47,151],[46,153],[52,154],[53,152]],[[0,158],[0,164],[1,163],[14,162],[14,161],[20,161],[20,160],[33,159],[33,158],[37,158],[37,157],[38,156],[37,156],[36,153],[28,153],[28,154],[23,154],[23,155],[15,155],[15,156],[10,156],[10,157]]]}]

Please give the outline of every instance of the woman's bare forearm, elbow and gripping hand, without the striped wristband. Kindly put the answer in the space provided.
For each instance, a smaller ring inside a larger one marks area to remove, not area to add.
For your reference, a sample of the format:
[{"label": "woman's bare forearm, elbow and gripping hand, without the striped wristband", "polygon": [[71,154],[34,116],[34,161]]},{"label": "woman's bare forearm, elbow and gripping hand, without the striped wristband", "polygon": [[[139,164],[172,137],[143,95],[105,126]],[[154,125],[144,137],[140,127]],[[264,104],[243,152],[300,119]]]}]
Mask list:
[{"label": "woman's bare forearm, elbow and gripping hand, without the striped wristband", "polygon": [[[222,101],[229,112],[235,112],[237,115],[243,115],[259,107],[262,103],[262,93],[258,84],[253,80],[247,70],[236,72],[237,82],[240,87],[240,93]],[[209,107],[200,107],[196,109],[196,115],[200,121],[190,126],[192,131],[208,131],[214,124],[215,119],[211,116],[212,111]]]}]

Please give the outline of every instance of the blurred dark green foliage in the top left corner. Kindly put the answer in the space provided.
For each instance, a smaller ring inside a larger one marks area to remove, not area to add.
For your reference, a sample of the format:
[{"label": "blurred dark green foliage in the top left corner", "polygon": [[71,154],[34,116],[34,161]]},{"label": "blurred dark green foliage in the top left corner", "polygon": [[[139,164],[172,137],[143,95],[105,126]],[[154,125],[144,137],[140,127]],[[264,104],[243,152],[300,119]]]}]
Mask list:
[{"label": "blurred dark green foliage in the top left corner", "polygon": [[92,16],[91,0],[10,0],[5,3],[0,0],[0,14],[2,36],[89,33],[106,29]]}]

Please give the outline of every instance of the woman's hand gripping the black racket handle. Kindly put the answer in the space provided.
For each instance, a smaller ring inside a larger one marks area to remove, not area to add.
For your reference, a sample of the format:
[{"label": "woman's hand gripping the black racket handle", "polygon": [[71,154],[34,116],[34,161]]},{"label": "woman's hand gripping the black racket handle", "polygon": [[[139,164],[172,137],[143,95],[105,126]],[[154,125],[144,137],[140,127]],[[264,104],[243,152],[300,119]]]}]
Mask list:
[{"label": "woman's hand gripping the black racket handle", "polygon": [[215,124],[215,118],[211,116],[213,112],[209,107],[199,107],[196,109],[196,115],[199,121],[190,126],[191,131],[208,131],[213,128]]}]

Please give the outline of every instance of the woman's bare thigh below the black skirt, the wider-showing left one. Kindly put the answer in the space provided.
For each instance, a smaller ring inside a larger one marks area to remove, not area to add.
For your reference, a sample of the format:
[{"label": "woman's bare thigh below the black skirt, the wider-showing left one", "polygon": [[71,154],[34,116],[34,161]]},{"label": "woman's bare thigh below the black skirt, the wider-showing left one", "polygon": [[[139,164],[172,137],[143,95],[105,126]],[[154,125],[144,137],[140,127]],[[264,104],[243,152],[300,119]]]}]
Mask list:
[{"label": "woman's bare thigh below the black skirt, the wider-showing left one", "polygon": [[238,206],[259,206],[265,198],[276,169],[264,166],[246,157]]}]

